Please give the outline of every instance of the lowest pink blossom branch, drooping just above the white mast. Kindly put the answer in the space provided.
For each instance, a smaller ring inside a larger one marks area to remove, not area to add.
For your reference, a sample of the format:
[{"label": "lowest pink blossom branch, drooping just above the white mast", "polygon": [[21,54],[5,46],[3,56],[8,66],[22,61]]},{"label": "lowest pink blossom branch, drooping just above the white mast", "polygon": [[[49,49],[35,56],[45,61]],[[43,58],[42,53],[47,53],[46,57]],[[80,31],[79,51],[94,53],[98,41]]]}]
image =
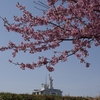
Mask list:
[{"label": "lowest pink blossom branch, drooping just above the white mast", "polygon": [[[93,39],[91,39],[89,42],[91,42],[91,41],[93,41]],[[67,58],[67,57],[69,57],[69,56],[72,56],[72,55],[74,55],[75,53],[77,53],[79,50],[83,50],[82,49],[82,47],[80,47],[79,49],[77,49],[76,51],[73,51],[73,50],[71,50],[72,51],[72,53],[71,54],[68,54],[68,53],[70,53],[71,51],[69,51],[69,52],[67,52],[67,51],[65,51],[64,52],[64,54],[66,55],[65,57],[63,56],[63,55],[61,55],[59,58],[58,58],[58,60],[63,60],[63,58],[65,59],[65,58]],[[79,57],[78,57],[79,58]],[[41,57],[39,58],[39,59],[41,59]],[[44,60],[45,59],[45,60]],[[54,58],[53,58],[54,59]],[[52,65],[55,65],[57,62],[55,62],[55,64],[54,64],[54,61],[53,61],[53,59],[52,60],[50,60],[50,59],[48,59],[48,58],[44,58],[43,57],[43,60],[42,61],[39,61],[39,63],[34,63],[33,62],[33,64],[24,64],[24,63],[14,63],[14,62],[12,62],[12,60],[9,60],[9,62],[10,63],[12,63],[12,64],[15,64],[15,65],[20,65],[20,68],[22,68],[23,70],[25,70],[25,67],[27,67],[27,68],[30,68],[30,69],[34,69],[34,68],[36,68],[36,67],[40,67],[40,66],[42,66],[42,65],[46,65],[46,68],[50,71],[50,72],[52,72],[52,71],[54,71],[54,68],[53,67],[50,67],[51,65],[50,64],[52,64]],[[80,61],[81,61],[81,63],[86,63],[86,67],[89,67],[89,63],[87,63],[87,62],[85,62],[84,61],[84,59],[83,58],[79,58],[80,59]],[[47,61],[47,60],[50,60],[50,61]],[[66,59],[64,60],[64,61],[66,61]],[[47,64],[49,64],[49,66],[47,66]]]}]

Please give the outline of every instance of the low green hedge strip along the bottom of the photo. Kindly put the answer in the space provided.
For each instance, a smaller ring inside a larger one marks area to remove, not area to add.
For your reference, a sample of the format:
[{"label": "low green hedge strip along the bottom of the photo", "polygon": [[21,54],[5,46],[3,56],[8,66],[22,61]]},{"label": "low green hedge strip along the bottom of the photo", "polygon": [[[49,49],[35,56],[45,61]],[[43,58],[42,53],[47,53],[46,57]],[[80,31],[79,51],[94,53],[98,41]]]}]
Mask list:
[{"label": "low green hedge strip along the bottom of the photo", "polygon": [[0,100],[93,100],[90,97],[0,93]]}]

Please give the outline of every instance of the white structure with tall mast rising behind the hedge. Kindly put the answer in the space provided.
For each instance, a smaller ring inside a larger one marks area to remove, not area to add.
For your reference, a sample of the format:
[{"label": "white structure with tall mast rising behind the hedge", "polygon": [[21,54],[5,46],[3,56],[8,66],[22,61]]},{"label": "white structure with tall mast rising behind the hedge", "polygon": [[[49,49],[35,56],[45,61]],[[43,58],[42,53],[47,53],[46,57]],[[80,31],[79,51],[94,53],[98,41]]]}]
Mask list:
[{"label": "white structure with tall mast rising behind the hedge", "polygon": [[41,89],[35,89],[33,94],[62,96],[62,91],[60,89],[53,88],[53,79],[49,75],[49,84],[41,84]]}]

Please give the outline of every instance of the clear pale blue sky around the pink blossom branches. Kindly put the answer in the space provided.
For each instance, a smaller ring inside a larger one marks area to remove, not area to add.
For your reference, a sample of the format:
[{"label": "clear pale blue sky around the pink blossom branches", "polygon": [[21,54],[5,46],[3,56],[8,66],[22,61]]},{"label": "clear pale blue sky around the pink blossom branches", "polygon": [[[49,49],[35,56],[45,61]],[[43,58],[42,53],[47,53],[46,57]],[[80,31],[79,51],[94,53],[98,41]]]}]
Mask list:
[{"label": "clear pale blue sky around the pink blossom branches", "polygon": [[[46,3],[45,0],[42,1]],[[40,10],[34,8],[33,0],[1,0],[0,16],[6,17],[9,22],[13,22],[14,15],[21,16],[22,12],[16,8],[17,2],[25,5],[26,9],[32,12],[33,15],[42,14]],[[23,41],[18,33],[7,32],[3,26],[3,21],[0,19],[0,47],[7,46],[9,40],[16,44]],[[66,50],[71,47],[70,43],[63,42],[57,50]],[[21,70],[19,66],[8,62],[8,59],[14,59],[16,62],[37,62],[38,56],[48,55],[50,57],[53,51],[33,55],[20,52],[16,58],[12,58],[12,50],[0,52],[0,92],[32,93],[34,89],[41,88],[41,84],[46,82],[46,76],[50,74],[53,78],[53,87],[61,89],[63,95],[100,95],[100,47],[92,46],[89,49],[89,57],[86,58],[91,63],[89,68],[86,68],[84,64],[80,64],[75,56],[69,57],[67,62],[57,64],[54,72],[48,72],[45,66],[34,70],[27,68]]]}]

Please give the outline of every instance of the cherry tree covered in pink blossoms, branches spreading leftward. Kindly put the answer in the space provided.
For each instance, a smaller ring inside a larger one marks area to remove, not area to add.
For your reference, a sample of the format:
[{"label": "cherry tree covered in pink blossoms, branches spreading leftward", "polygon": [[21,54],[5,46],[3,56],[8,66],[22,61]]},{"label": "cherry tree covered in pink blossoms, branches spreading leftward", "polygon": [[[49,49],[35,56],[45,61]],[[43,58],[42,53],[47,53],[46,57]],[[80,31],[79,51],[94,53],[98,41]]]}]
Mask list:
[{"label": "cherry tree covered in pink blossoms, branches spreading leftward", "polygon": [[[70,41],[73,48],[54,51],[51,58],[42,56],[31,64],[15,63],[12,60],[9,62],[22,69],[46,66],[49,71],[54,71],[55,64],[66,62],[69,56],[75,55],[80,63],[89,67],[90,63],[85,61],[89,56],[88,48],[91,48],[91,44],[100,45],[100,0],[47,0],[47,4],[40,1],[34,3],[45,8],[42,10],[43,15],[33,16],[25,6],[17,3],[16,7],[23,12],[23,16],[14,16],[14,23],[1,17],[8,32],[19,33],[25,42],[16,45],[9,41],[8,46],[1,47],[0,51],[12,49],[12,56],[15,57],[20,51],[34,54],[56,49],[64,41]],[[47,28],[36,30],[38,26]]]}]

